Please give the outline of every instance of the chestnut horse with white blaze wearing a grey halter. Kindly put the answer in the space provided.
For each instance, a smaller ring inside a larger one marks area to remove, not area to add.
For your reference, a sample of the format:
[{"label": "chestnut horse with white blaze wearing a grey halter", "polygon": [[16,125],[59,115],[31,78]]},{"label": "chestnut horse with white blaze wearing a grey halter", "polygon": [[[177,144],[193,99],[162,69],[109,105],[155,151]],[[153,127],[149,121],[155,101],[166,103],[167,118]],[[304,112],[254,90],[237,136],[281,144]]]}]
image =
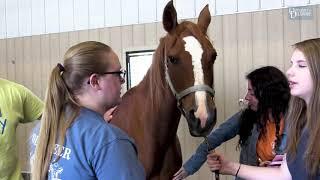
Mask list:
[{"label": "chestnut horse with white blaze wearing a grey halter", "polygon": [[182,165],[177,129],[181,114],[192,136],[206,136],[216,124],[213,64],[217,53],[206,35],[208,5],[197,24],[178,23],[173,2],[163,12],[167,34],[153,55],[143,80],[129,89],[111,123],[137,145],[147,179],[172,179]]}]

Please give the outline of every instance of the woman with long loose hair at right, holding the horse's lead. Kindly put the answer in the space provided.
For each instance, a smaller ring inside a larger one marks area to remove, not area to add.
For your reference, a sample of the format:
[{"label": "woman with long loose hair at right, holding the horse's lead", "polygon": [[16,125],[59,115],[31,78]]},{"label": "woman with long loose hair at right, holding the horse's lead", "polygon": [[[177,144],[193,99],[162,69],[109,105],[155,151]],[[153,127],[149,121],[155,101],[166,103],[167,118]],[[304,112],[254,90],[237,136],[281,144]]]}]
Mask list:
[{"label": "woman with long loose hair at right, holding the horse's lead", "polygon": [[320,38],[294,45],[287,71],[292,95],[286,117],[287,155],[280,168],[258,168],[208,155],[211,170],[244,179],[320,180]]}]

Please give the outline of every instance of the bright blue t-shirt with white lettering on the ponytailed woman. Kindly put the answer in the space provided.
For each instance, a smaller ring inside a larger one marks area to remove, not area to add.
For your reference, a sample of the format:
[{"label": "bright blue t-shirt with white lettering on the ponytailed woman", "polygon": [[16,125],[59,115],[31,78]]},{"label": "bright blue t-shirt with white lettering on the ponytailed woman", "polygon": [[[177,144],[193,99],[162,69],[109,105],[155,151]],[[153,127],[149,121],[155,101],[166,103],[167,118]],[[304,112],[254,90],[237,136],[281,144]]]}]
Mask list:
[{"label": "bright blue t-shirt with white lettering on the ponytailed woman", "polygon": [[[33,152],[38,132],[39,126],[31,137]],[[56,144],[53,159],[58,149]],[[48,179],[145,179],[133,140],[92,110],[81,109],[62,149],[60,159],[50,164]]]}]

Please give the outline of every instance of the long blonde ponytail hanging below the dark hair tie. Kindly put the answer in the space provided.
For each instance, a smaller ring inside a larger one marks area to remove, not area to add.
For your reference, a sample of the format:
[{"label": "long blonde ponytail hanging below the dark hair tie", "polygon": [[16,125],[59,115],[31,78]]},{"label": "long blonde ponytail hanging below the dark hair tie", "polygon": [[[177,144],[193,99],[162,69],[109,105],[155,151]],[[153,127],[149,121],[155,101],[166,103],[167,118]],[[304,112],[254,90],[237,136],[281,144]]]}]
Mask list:
[{"label": "long blonde ponytail hanging below the dark hair tie", "polygon": [[[58,66],[55,67],[49,79],[45,110],[41,118],[39,137],[32,162],[31,177],[33,180],[47,179],[55,144],[64,144],[66,130],[78,114],[79,106],[70,94],[61,76],[62,72]],[[67,107],[73,109],[69,118],[65,114]],[[60,157],[61,153],[62,150],[59,149],[57,157]]]}]

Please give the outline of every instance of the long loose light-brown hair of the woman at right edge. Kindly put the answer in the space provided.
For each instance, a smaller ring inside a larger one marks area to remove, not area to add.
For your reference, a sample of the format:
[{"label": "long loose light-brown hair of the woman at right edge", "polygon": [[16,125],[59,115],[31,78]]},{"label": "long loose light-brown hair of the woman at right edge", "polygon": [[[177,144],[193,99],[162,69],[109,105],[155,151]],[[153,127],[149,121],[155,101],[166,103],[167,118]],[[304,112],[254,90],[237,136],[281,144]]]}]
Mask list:
[{"label": "long loose light-brown hair of the woman at right edge", "polygon": [[287,122],[289,124],[288,152],[295,157],[304,127],[308,130],[308,142],[304,162],[311,176],[319,172],[320,165],[320,38],[299,42],[294,47],[307,59],[312,78],[313,92],[309,104],[299,97],[292,97]]}]

